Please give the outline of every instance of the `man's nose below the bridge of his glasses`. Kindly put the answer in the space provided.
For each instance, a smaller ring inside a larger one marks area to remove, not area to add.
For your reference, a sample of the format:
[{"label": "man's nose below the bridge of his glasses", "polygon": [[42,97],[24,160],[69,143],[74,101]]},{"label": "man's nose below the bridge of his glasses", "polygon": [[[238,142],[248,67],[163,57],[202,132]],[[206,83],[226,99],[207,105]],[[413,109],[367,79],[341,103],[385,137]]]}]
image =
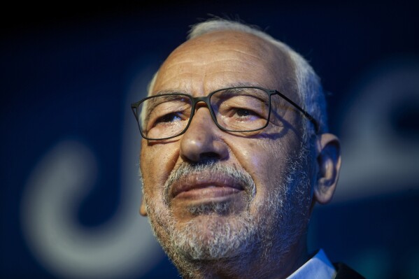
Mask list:
[{"label": "man's nose below the bridge of his glasses", "polygon": [[180,139],[180,157],[187,162],[227,159],[229,151],[222,141],[222,133],[213,122],[208,108],[199,107]]}]

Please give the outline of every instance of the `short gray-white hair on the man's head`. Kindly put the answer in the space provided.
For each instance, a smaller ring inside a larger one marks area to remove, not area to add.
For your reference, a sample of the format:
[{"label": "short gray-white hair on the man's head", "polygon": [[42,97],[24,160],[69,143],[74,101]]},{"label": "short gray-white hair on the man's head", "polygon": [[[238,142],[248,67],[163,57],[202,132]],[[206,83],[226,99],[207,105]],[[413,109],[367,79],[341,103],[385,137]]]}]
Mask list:
[{"label": "short gray-white hair on the man's head", "polygon": [[[264,41],[275,45],[279,50],[287,53],[287,55],[290,56],[291,61],[294,63],[294,75],[297,80],[297,90],[299,99],[302,103],[301,107],[318,121],[320,133],[325,133],[328,130],[326,100],[320,83],[320,78],[304,57],[301,57],[301,55],[292,50],[292,48],[285,43],[272,38],[269,34],[264,31],[260,31],[260,29],[255,26],[222,18],[215,18],[192,25],[188,33],[187,40],[214,31],[240,31],[253,34],[262,38]],[[152,93],[157,73],[155,73],[155,76],[153,76],[150,84],[148,85],[149,95]],[[307,124],[304,125],[304,141],[306,141],[308,136],[313,134],[314,131],[312,124],[308,124],[308,122],[305,123]]]}]

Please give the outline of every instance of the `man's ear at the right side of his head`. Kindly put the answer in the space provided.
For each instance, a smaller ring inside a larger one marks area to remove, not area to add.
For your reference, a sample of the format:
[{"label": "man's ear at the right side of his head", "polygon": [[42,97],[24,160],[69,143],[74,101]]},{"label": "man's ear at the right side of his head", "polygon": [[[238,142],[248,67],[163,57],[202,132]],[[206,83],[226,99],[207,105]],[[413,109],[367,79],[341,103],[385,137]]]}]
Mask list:
[{"label": "man's ear at the right side of his head", "polygon": [[341,145],[332,134],[321,134],[317,143],[318,177],[314,198],[325,204],[332,200],[341,169]]}]

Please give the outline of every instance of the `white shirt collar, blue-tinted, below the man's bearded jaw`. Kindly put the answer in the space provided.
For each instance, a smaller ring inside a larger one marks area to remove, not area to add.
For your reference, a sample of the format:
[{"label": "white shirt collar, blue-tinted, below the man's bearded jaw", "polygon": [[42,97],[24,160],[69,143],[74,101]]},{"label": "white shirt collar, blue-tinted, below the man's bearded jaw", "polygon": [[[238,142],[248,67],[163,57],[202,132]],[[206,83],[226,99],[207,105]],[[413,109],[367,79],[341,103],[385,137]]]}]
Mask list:
[{"label": "white shirt collar, blue-tinted, below the man's bearded jaw", "polygon": [[325,252],[320,249],[314,257],[294,271],[287,279],[332,279],[336,276],[336,269],[327,259]]}]

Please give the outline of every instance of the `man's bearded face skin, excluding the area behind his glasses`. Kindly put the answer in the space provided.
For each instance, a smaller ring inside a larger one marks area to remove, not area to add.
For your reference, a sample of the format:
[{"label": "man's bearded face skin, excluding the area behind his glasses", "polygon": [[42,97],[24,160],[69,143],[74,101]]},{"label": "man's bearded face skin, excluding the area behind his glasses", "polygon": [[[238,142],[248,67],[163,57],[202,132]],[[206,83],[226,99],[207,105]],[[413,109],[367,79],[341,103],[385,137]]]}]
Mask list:
[{"label": "man's bearded face skin, excluding the area behind his glasses", "polygon": [[[159,69],[152,94],[206,96],[238,85],[276,89],[301,103],[289,57],[234,31],[180,45]],[[261,131],[221,131],[198,103],[185,134],[143,140],[145,207],[175,264],[273,249],[282,259],[304,243],[313,164],[311,150],[301,143],[306,120],[278,96],[272,101],[271,121]]]}]

